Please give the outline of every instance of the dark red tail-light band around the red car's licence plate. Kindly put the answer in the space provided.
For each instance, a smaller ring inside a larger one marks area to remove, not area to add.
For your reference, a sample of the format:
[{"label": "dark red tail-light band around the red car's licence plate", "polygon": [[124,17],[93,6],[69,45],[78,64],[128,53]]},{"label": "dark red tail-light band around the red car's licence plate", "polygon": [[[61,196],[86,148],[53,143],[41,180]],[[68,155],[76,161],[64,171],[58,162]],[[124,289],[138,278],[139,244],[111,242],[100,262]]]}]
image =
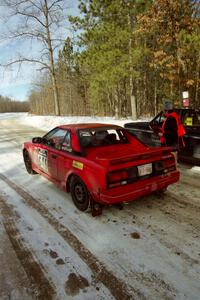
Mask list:
[{"label": "dark red tail-light band around the red car's licence plate", "polygon": [[138,167],[126,168],[118,171],[113,171],[107,174],[108,187],[116,187],[126,185],[138,180],[159,176],[176,170],[174,159],[159,160],[152,163],[152,172],[147,175],[139,175]]}]

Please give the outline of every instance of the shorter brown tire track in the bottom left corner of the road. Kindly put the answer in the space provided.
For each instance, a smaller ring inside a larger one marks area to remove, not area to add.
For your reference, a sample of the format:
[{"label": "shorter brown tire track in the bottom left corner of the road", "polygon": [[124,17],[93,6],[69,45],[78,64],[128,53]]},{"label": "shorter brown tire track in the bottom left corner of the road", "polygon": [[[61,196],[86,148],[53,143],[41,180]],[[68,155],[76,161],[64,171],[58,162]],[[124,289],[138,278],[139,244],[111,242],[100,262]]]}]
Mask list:
[{"label": "shorter brown tire track in the bottom left corner of the road", "polygon": [[15,226],[14,219],[16,215],[2,197],[0,197],[0,207],[2,208],[3,224],[6,233],[31,282],[33,296],[38,300],[54,299],[55,290],[52,283],[46,278],[42,266],[35,260],[31,250],[24,244],[24,240]]}]

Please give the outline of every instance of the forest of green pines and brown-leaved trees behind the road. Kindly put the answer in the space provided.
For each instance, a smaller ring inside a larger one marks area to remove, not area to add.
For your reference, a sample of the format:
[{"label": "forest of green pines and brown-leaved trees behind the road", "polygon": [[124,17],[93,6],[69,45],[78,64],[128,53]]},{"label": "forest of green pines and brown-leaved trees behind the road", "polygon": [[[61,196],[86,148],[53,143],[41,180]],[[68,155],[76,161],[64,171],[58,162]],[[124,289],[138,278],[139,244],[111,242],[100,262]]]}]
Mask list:
[{"label": "forest of green pines and brown-leaved trees behind the road", "polygon": [[[62,8],[56,2],[44,0],[46,22]],[[65,16],[73,35],[59,51],[44,24],[48,63],[29,93],[31,113],[136,119],[154,115],[166,99],[182,107],[183,91],[200,107],[199,1],[79,0],[78,8]],[[28,8],[23,14],[30,16]]]}]

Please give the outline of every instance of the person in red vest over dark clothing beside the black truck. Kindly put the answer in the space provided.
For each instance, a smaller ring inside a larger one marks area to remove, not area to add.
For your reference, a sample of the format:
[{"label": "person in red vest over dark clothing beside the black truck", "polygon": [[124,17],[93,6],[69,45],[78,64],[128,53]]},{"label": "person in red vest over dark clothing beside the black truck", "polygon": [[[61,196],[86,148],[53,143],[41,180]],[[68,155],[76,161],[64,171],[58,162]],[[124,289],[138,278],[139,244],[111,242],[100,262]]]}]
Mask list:
[{"label": "person in red vest over dark clothing beside the black truck", "polygon": [[179,115],[173,109],[167,110],[165,116],[166,119],[161,129],[161,144],[172,147],[174,151],[179,151],[185,146],[183,140],[185,134],[184,126],[181,123]]}]

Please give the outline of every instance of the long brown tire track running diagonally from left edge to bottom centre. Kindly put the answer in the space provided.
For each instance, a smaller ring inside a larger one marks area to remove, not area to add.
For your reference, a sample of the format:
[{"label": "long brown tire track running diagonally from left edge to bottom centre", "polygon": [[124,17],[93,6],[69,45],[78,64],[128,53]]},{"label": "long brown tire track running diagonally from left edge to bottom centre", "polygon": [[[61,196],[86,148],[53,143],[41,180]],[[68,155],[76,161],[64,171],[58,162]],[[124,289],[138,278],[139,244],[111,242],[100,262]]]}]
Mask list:
[{"label": "long brown tire track running diagonally from left edge to bottom centre", "polygon": [[127,286],[123,281],[113,275],[112,272],[110,272],[105,265],[95,257],[95,255],[85,248],[68,228],[59,223],[59,221],[51,215],[48,209],[37,199],[33,198],[29,193],[1,173],[0,179],[15,190],[24,199],[24,203],[36,209],[42,217],[47,219],[49,224],[69,243],[81,259],[89,266],[94,277],[108,288],[116,300],[131,300],[135,298],[145,299],[145,296],[139,290]]}]

